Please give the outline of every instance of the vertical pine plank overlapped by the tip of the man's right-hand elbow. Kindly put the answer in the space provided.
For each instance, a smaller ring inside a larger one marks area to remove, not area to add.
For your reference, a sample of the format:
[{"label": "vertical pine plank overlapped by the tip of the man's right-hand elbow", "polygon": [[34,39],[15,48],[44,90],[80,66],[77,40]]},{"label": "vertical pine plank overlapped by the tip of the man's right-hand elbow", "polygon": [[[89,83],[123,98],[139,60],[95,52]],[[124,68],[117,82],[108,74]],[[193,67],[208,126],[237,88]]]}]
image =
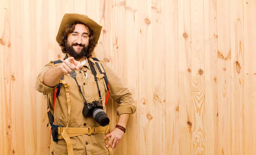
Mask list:
[{"label": "vertical pine plank overlapped by the tip of the man's right-hand elbow", "polygon": [[[135,106],[136,112],[130,115],[127,124],[127,155],[136,155],[140,150],[140,96],[139,96],[139,24],[138,24],[138,1],[125,1],[125,57],[127,60],[125,76],[126,85],[130,90]],[[132,70],[132,73],[131,73]]]}]

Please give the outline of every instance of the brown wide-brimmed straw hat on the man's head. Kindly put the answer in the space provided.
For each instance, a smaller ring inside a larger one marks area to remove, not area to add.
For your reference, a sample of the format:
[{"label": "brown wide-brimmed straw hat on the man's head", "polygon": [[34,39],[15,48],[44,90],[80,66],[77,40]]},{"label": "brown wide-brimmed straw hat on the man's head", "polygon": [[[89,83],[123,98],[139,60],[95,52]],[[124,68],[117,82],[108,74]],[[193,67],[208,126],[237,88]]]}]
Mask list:
[{"label": "brown wide-brimmed straw hat on the man's head", "polygon": [[92,29],[94,34],[94,39],[96,42],[98,42],[102,26],[96,23],[94,20],[90,19],[88,16],[83,14],[64,14],[61,20],[61,25],[60,25],[57,37],[56,37],[57,42],[61,44],[61,34],[64,33],[66,25],[75,23],[77,21],[84,23],[90,29]]}]

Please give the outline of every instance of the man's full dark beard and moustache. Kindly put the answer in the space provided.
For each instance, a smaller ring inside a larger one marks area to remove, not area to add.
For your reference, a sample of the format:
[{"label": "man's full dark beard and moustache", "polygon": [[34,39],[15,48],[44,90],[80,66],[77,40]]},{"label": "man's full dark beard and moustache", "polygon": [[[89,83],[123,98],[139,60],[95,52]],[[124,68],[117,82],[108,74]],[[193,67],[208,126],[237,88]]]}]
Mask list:
[{"label": "man's full dark beard and moustache", "polygon": [[[76,45],[83,47],[80,52],[76,52],[75,49],[73,48],[73,46],[76,46]],[[87,52],[87,48],[88,46],[85,47],[84,44],[73,43],[70,46],[69,43],[67,43],[66,52],[70,56],[74,57],[74,59],[81,59],[82,57],[85,57],[89,54]]]}]

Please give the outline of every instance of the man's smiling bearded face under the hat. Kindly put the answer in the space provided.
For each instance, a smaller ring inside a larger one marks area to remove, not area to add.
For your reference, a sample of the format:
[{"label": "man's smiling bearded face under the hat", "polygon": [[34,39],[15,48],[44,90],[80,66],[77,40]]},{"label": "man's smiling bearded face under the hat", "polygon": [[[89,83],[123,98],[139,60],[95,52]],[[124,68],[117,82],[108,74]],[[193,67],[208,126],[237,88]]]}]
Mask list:
[{"label": "man's smiling bearded face under the hat", "polygon": [[87,48],[89,44],[88,27],[83,24],[76,24],[73,32],[67,37],[67,54],[75,59],[87,56]]}]

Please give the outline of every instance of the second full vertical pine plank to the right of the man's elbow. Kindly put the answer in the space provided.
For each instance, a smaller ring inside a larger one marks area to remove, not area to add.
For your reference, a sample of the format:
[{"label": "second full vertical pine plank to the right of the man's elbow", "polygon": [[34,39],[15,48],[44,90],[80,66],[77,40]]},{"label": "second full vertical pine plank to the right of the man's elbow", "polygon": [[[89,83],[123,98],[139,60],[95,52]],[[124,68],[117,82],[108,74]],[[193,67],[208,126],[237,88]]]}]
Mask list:
[{"label": "second full vertical pine plank to the right of the man's elbow", "polygon": [[[151,76],[151,86],[153,90],[153,101],[150,108],[152,110],[153,127],[153,155],[166,154],[166,94],[165,94],[165,20],[163,0],[152,0],[152,38],[153,52],[153,76]],[[150,61],[150,60],[148,60]],[[160,144],[160,145],[159,145]]]}]

